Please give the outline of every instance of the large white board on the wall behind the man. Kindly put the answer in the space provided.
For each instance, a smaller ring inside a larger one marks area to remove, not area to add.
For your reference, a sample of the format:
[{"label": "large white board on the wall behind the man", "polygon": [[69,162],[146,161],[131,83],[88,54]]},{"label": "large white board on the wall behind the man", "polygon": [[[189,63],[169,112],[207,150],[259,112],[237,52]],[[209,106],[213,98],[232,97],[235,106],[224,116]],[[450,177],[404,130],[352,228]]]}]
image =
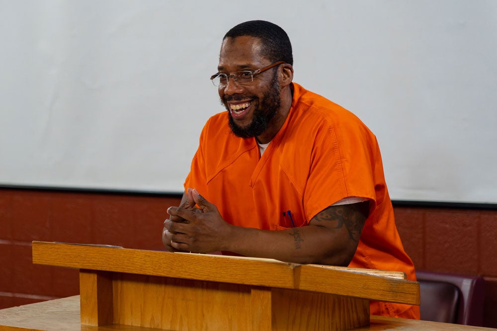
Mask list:
[{"label": "large white board on the wall behind the man", "polygon": [[[305,2],[305,3],[304,3]],[[0,0],[0,185],[180,193],[224,34],[288,33],[395,200],[497,203],[497,1]]]}]

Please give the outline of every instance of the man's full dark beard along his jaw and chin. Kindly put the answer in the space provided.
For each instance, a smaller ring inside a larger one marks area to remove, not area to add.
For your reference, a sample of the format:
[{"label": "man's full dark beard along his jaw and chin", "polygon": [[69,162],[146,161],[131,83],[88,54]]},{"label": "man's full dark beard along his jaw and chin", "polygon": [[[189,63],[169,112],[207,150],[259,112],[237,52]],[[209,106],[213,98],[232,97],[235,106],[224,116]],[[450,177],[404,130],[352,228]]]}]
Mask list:
[{"label": "man's full dark beard along his jaw and chin", "polygon": [[281,107],[280,87],[276,71],[270,86],[269,91],[264,93],[257,108],[253,110],[252,122],[247,127],[239,127],[233,120],[230,110],[228,110],[230,129],[236,136],[241,138],[256,137],[267,130],[270,120]]}]

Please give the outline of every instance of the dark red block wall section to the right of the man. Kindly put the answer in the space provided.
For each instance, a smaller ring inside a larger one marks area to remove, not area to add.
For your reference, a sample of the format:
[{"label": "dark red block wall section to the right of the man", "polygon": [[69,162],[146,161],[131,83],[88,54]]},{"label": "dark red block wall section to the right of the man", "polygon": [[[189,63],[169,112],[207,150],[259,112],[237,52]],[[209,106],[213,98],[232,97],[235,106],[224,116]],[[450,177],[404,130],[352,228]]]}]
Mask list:
[{"label": "dark red block wall section to the right of the man", "polygon": [[484,326],[497,328],[497,211],[394,209],[404,248],[417,269],[484,276]]}]

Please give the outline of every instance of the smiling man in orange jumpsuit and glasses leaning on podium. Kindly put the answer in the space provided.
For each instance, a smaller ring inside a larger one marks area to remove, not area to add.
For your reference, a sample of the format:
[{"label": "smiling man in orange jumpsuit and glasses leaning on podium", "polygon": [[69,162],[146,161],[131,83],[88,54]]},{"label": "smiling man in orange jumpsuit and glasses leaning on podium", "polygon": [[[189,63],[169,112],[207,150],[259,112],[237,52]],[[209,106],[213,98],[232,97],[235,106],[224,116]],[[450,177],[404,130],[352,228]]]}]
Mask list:
[{"label": "smiling man in orange jumpsuit and glasses leaning on podium", "polygon": [[[167,211],[166,249],[400,270],[415,280],[375,136],[293,83],[292,65],[277,25],[249,21],[225,35],[211,79],[227,112],[200,135],[181,204]],[[370,312],[419,318],[410,305],[372,302]]]}]

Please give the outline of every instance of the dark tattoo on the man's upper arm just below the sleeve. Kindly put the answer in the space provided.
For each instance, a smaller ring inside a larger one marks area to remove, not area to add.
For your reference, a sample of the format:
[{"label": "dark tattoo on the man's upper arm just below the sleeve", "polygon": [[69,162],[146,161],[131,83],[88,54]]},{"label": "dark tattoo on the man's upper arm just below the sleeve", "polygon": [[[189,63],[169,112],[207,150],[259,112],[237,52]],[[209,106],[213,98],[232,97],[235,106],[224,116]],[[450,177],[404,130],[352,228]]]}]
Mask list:
[{"label": "dark tattoo on the man's upper arm just below the sleeve", "polygon": [[359,242],[362,227],[367,218],[366,207],[367,204],[364,202],[360,204],[331,206],[317,214],[314,219],[318,222],[334,222],[335,229],[339,229],[345,224],[350,239]]}]

